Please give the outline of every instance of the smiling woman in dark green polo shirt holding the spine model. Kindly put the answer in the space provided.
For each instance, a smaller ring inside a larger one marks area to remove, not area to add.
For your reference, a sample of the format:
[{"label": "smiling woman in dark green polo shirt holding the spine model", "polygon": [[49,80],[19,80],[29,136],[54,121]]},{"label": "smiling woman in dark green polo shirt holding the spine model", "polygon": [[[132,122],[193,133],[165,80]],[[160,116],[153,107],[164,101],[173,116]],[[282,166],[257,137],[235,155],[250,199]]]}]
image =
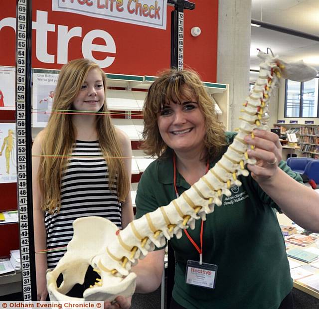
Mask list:
[{"label": "smiling woman in dark green polo shirt holding the spine model", "polygon": [[[139,182],[137,218],[188,189],[235,136],[224,132],[199,77],[187,70],[169,70],[153,83],[144,122],[144,151],[158,159]],[[277,135],[254,133],[255,139],[247,136],[245,141],[256,146],[249,156],[257,164],[247,166],[251,173],[239,178],[242,186],[232,186],[232,195],[224,196],[206,221],[197,220],[194,230],[170,240],[176,260],[171,309],[293,308],[293,282],[274,209],[319,231],[319,195],[301,184],[301,177],[282,160]],[[137,292],[159,287],[163,258],[160,248],[133,268]]]}]

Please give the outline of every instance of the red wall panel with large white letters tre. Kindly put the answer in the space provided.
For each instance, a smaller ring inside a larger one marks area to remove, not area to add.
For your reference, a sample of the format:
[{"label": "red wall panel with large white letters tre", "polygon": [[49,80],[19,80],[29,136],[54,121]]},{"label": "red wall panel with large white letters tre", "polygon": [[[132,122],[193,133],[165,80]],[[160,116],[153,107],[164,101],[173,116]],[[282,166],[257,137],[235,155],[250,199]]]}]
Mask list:
[{"label": "red wall panel with large white letters tre", "polygon": [[[0,10],[0,65],[15,65],[15,1]],[[184,67],[216,81],[218,0],[193,1],[184,11]],[[170,65],[170,12],[166,30],[52,11],[51,1],[32,0],[32,67],[60,69],[67,61],[90,57],[108,73],[158,75]],[[201,34],[193,37],[192,27]]]}]

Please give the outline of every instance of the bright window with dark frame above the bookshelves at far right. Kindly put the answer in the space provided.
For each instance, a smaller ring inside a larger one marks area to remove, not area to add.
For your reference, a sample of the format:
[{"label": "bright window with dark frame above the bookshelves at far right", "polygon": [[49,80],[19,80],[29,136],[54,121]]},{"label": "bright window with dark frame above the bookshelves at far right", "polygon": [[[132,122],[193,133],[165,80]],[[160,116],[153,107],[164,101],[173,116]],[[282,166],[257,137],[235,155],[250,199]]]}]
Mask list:
[{"label": "bright window with dark frame above the bookshelves at far right", "polygon": [[319,117],[318,88],[318,78],[307,82],[286,80],[285,117]]}]

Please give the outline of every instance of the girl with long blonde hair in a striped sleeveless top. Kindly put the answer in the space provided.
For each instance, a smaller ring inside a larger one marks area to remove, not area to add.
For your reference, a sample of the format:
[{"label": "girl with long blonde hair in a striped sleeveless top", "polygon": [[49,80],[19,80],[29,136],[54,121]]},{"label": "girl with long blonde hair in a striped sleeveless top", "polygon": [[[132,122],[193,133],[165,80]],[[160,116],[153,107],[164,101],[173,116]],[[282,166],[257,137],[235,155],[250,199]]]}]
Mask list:
[{"label": "girl with long blonde hair in a striped sleeveless top", "polygon": [[[76,218],[101,216],[119,228],[133,219],[131,143],[111,124],[105,92],[106,76],[97,64],[88,59],[65,64],[55,89],[53,112],[33,143],[39,301],[47,296],[46,270],[53,269],[64,255]],[[49,251],[39,253],[42,250]],[[69,295],[82,297],[96,277],[88,271],[84,285],[76,285]]]}]

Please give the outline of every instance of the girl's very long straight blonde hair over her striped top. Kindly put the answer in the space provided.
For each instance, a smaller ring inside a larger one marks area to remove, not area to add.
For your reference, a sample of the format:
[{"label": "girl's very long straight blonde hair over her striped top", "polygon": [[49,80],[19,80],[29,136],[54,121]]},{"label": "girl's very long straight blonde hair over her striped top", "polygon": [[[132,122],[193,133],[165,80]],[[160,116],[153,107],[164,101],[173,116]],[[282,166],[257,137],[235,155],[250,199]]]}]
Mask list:
[{"label": "girl's very long straight blonde hair over her striped top", "polygon": [[[76,129],[71,121],[73,101],[79,93],[87,74],[96,69],[102,75],[106,92],[106,75],[101,68],[89,59],[75,59],[65,64],[59,74],[55,89],[53,112],[45,128],[42,139],[42,154],[38,172],[38,182],[42,192],[41,209],[54,213],[61,207],[60,185],[62,172],[75,143]],[[105,96],[106,97],[106,96]],[[96,132],[103,155],[106,157],[109,171],[109,187],[117,180],[117,194],[124,201],[129,193],[129,179],[123,159],[120,144],[115,129],[111,123],[106,100],[96,116]]]}]

